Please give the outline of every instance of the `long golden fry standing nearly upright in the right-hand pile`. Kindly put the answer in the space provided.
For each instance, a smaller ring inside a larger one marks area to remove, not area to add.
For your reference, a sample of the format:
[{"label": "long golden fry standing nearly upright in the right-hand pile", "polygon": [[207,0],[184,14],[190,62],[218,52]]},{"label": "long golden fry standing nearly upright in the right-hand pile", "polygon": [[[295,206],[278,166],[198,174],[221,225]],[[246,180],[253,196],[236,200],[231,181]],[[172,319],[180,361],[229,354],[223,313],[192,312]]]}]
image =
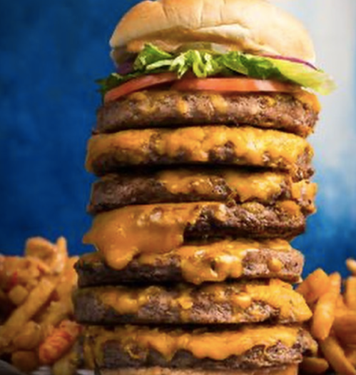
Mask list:
[{"label": "long golden fry standing nearly upright in the right-hand pile", "polygon": [[329,281],[329,289],[318,299],[312,316],[312,336],[320,340],[325,340],[330,334],[335,319],[336,302],[340,296],[340,274],[331,274]]}]

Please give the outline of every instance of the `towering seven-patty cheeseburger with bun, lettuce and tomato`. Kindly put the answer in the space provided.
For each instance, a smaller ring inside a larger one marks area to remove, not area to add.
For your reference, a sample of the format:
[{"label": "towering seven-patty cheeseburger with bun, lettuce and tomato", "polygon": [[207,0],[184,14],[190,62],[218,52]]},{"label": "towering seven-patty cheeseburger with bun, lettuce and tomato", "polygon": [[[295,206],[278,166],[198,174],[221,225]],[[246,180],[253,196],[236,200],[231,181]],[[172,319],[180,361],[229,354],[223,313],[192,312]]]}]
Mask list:
[{"label": "towering seven-patty cheeseburger with bun, lettuce and tomato", "polygon": [[88,142],[76,269],[83,357],[101,374],[297,374],[315,342],[289,241],[315,211],[303,27],[263,0],[143,1],[111,39],[119,73]]}]

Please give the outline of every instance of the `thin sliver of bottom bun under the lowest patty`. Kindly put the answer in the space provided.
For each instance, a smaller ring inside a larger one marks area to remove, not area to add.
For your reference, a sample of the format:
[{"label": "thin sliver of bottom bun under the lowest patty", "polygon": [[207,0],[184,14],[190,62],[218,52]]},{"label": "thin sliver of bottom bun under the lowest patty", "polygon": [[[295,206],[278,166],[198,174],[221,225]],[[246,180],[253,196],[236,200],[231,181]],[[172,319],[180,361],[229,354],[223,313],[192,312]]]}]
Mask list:
[{"label": "thin sliver of bottom bun under the lowest patty", "polygon": [[101,375],[297,375],[298,366],[279,366],[271,369],[248,370],[208,370],[208,369],[165,369],[150,367],[147,369],[123,368],[117,370],[101,370]]}]

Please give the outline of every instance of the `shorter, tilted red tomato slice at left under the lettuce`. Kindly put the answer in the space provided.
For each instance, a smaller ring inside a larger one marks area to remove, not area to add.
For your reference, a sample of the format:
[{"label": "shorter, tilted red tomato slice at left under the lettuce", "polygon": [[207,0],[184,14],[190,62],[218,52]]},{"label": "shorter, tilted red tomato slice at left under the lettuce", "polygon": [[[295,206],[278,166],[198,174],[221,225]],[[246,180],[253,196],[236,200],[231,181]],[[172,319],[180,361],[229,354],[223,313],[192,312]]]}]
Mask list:
[{"label": "shorter, tilted red tomato slice at left under the lettuce", "polygon": [[178,79],[176,73],[150,74],[148,76],[134,78],[131,79],[131,81],[128,81],[125,84],[108,91],[104,96],[104,103],[117,100],[121,98],[121,96],[131,94],[131,92],[146,89],[146,87],[155,86],[158,84],[176,81],[176,79]]}]

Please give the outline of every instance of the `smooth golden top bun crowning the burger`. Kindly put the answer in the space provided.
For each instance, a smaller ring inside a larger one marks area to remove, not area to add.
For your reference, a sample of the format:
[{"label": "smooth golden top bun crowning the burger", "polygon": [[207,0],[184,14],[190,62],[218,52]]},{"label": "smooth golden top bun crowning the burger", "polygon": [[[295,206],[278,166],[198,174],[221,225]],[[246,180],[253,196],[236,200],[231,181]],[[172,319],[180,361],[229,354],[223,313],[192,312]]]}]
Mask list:
[{"label": "smooth golden top bun crowning the burger", "polygon": [[174,51],[196,41],[315,61],[304,26],[267,0],[142,1],[123,16],[110,45],[116,59],[120,51],[137,53],[146,43]]}]

